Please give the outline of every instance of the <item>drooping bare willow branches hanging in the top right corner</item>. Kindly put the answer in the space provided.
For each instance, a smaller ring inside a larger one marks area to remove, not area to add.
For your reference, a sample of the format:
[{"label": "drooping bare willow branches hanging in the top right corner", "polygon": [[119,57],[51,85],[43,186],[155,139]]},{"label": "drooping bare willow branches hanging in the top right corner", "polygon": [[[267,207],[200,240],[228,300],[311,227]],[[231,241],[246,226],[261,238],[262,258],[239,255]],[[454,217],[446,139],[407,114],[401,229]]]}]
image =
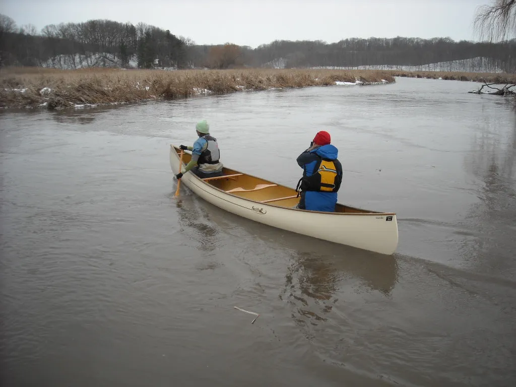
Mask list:
[{"label": "drooping bare willow branches hanging in the top right corner", "polygon": [[493,0],[492,5],[481,6],[474,26],[480,38],[491,42],[516,37],[516,0]]}]

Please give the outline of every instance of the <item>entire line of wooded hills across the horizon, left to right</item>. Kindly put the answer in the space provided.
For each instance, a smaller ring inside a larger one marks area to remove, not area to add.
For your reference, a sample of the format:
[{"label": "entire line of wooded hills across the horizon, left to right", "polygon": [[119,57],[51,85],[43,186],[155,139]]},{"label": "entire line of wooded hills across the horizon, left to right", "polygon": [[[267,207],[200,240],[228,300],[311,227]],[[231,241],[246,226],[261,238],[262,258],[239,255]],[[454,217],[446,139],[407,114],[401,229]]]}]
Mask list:
[{"label": "entire line of wooded hills across the horizon, left to right", "polygon": [[[0,15],[0,66],[121,66],[139,68],[421,66],[487,58],[487,68],[516,72],[516,39],[501,43],[450,38],[350,38],[336,43],[277,40],[255,49],[231,43],[197,45],[170,30],[90,20],[17,27]],[[479,69],[482,71],[482,69]]]}]

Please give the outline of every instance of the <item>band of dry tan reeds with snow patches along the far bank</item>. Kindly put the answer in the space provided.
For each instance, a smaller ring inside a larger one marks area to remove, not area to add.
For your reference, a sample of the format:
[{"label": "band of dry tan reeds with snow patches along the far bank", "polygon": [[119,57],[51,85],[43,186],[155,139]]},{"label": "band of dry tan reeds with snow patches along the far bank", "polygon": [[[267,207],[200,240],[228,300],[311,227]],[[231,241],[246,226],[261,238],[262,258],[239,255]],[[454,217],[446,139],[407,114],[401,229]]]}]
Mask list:
[{"label": "band of dry tan reeds with snow patches along the far bank", "polygon": [[198,94],[227,94],[332,85],[376,85],[398,77],[514,83],[516,74],[397,70],[59,70],[11,67],[0,70],[2,108],[80,108],[144,101],[170,101]]}]

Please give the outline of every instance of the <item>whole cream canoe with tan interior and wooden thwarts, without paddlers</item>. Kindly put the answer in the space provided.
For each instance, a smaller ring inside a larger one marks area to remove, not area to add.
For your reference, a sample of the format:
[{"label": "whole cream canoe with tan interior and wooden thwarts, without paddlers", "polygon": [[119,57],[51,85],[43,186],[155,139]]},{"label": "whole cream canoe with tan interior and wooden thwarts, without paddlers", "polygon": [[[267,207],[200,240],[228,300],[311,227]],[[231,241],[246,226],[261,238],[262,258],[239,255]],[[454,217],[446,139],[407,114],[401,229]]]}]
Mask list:
[{"label": "whole cream canoe with tan interior and wooden thwarts, without paddlers", "polygon": [[[170,167],[179,173],[181,150],[170,146]],[[183,153],[183,165],[191,154]],[[293,188],[224,168],[224,176],[200,179],[192,172],[181,178],[194,193],[225,211],[272,227],[328,240],[341,245],[391,255],[398,246],[395,213],[354,208],[337,203],[332,213],[293,208]]]}]

